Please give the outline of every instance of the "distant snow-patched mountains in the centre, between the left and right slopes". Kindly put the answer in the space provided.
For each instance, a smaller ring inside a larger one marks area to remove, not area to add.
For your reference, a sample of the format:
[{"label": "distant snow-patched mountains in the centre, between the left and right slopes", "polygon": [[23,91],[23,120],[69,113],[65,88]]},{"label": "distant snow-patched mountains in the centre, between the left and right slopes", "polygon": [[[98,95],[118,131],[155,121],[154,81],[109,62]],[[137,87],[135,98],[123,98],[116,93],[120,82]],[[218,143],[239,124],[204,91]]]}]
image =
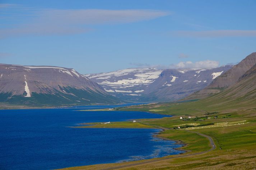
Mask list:
[{"label": "distant snow-patched mountains in the centre, between the left and right slopes", "polygon": [[109,73],[86,74],[107,92],[130,101],[174,101],[208,86],[231,65],[219,68],[132,68]]}]

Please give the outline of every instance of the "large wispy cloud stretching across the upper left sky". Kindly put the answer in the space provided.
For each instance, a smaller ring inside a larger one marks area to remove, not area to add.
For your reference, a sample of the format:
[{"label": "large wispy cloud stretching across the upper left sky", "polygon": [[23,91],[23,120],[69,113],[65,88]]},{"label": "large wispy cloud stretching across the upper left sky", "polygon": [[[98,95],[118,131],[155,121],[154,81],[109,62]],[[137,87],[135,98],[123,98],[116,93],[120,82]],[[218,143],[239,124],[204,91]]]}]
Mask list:
[{"label": "large wispy cloud stretching across the upper left sky", "polygon": [[[0,4],[5,15],[1,19],[20,19],[13,8],[22,9],[24,22],[15,28],[0,29],[0,38],[26,34],[79,34],[92,30],[95,24],[122,24],[152,20],[170,15],[160,10],[106,10],[106,9],[31,9],[19,5]],[[13,12],[13,13],[12,13]]]}]

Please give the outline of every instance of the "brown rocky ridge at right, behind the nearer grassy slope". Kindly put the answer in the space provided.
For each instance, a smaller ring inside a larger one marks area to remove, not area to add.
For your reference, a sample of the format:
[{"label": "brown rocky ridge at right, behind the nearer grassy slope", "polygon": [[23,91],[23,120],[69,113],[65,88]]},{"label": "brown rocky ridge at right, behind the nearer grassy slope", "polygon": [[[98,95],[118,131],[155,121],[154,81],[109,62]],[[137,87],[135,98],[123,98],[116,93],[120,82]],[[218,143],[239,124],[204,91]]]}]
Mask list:
[{"label": "brown rocky ridge at right, behind the nearer grassy slope", "polygon": [[237,65],[234,65],[229,71],[216,78],[209,86],[198,91],[186,99],[199,99],[219,93],[221,90],[232,86],[238,79],[256,64],[256,52],[248,55]]}]

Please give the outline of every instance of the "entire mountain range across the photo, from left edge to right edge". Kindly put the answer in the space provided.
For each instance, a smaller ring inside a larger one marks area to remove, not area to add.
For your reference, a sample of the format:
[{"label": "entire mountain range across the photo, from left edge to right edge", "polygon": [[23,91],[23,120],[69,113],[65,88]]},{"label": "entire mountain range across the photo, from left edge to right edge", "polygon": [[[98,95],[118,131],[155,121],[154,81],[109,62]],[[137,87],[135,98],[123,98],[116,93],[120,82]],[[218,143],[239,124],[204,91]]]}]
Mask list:
[{"label": "entire mountain range across the photo, from left edge to right edge", "polygon": [[64,67],[0,64],[0,102],[30,106],[201,98],[253,102],[255,78],[256,53],[237,65],[218,68],[130,68],[84,75]]}]

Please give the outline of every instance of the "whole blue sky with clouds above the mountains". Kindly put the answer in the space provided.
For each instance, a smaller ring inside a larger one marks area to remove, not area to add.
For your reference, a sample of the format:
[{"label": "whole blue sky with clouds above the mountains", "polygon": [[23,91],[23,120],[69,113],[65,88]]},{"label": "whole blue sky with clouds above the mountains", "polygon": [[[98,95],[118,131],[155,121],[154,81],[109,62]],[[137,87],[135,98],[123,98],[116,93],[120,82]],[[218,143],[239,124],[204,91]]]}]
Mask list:
[{"label": "whole blue sky with clouds above the mountains", "polygon": [[100,73],[206,68],[256,52],[255,0],[0,0],[0,63]]}]

